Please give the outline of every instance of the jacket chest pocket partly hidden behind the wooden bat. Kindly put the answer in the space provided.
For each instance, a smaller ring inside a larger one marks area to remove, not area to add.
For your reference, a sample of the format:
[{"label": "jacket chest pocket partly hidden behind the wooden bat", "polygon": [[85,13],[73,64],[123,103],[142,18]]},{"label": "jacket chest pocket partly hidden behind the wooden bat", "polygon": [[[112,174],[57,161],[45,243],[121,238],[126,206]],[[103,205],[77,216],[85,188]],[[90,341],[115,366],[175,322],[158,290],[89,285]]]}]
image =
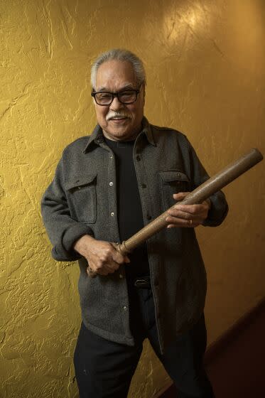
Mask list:
[{"label": "jacket chest pocket partly hidden behind the wooden bat", "polygon": [[183,171],[178,170],[159,171],[159,176],[163,195],[163,208],[168,210],[176,203],[173,193],[188,192],[190,190],[190,181]]}]

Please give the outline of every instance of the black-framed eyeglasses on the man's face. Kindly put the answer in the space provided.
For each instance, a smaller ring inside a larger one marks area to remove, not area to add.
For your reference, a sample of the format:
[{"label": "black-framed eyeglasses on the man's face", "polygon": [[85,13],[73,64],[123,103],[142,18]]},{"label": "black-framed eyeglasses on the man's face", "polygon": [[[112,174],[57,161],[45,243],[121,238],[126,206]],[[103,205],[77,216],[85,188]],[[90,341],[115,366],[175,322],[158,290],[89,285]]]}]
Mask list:
[{"label": "black-framed eyeglasses on the man's face", "polygon": [[94,97],[94,100],[98,105],[102,105],[103,107],[106,105],[110,105],[114,99],[117,97],[121,104],[133,104],[136,102],[137,95],[139,95],[141,85],[138,90],[122,90],[117,92],[107,92],[107,91],[98,91],[92,92],[91,95]]}]

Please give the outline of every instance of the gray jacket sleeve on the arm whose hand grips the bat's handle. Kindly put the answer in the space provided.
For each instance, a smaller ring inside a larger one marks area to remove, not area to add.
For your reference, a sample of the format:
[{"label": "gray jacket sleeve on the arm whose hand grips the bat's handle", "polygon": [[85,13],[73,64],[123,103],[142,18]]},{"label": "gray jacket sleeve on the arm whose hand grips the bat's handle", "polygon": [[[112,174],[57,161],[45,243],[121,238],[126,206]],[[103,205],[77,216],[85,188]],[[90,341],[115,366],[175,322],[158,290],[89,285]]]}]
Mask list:
[{"label": "gray jacket sleeve on the arm whose hand grips the bat's handle", "polygon": [[93,231],[71,217],[63,181],[61,159],[55,177],[41,200],[41,214],[48,237],[53,244],[53,258],[58,261],[75,261],[81,256],[72,249],[73,244],[83,235],[93,235]]}]

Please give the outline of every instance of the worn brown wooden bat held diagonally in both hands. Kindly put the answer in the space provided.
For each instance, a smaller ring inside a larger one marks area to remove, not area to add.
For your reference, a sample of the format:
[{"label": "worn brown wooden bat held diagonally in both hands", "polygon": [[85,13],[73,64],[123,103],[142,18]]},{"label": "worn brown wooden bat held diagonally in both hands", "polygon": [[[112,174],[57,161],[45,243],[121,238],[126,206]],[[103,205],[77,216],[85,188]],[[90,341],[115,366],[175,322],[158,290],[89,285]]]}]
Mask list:
[{"label": "worn brown wooden bat held diagonally in both hands", "polygon": [[[209,198],[218,190],[221,190],[226,185],[234,181],[236,178],[241,176],[243,173],[255,166],[263,159],[261,152],[258,149],[251,149],[247,154],[244,154],[241,158],[237,159],[233,163],[230,163],[219,173],[209,178],[205,183],[202,183],[198,188],[188,193],[188,195],[180,202],[175,205],[195,205],[202,203],[203,200]],[[174,208],[173,205],[171,208]],[[169,209],[168,209],[169,210]],[[163,230],[168,225],[166,217],[168,217],[168,210],[156,217],[155,220],[151,221],[144,228],[136,232],[128,240],[117,244],[117,251],[122,255],[131,253],[137,246],[148,240],[149,237],[155,235],[157,232]],[[97,273],[88,268],[88,274],[91,277],[97,276]]]}]

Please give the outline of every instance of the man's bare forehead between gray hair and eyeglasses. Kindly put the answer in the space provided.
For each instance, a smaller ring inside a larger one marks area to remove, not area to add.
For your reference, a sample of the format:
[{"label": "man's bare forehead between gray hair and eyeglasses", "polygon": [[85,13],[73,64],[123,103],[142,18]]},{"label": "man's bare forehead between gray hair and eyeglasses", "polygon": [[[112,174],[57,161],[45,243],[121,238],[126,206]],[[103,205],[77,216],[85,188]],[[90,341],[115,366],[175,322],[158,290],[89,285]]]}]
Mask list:
[{"label": "man's bare forehead between gray hair and eyeglasses", "polygon": [[128,61],[109,60],[99,66],[96,77],[97,90],[119,90],[123,87],[134,87],[136,76],[134,68]]}]

